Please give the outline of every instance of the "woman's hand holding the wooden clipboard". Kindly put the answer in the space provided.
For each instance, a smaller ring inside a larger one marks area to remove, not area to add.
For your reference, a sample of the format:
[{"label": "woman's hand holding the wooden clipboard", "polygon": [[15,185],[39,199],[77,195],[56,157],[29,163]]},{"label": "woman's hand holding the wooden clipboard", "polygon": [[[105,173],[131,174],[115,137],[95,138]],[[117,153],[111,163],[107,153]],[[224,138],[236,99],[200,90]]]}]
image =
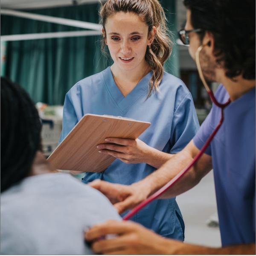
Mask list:
[{"label": "woman's hand holding the wooden clipboard", "polygon": [[139,139],[107,138],[105,141],[107,143],[97,146],[99,153],[109,154],[124,163],[147,163],[153,150]]}]

